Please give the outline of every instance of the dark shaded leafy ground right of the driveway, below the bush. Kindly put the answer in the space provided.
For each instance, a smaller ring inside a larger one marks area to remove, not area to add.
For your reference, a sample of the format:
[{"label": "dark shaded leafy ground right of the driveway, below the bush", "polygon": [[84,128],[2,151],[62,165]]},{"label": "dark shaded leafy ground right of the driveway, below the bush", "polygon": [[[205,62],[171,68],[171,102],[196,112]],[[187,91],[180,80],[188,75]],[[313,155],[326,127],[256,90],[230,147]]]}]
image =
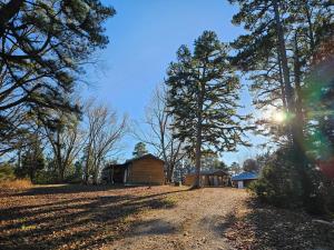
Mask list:
[{"label": "dark shaded leafy ground right of the driveway, below the bush", "polygon": [[316,224],[303,211],[292,211],[248,199],[217,228],[237,249],[323,249],[334,246],[334,229]]}]

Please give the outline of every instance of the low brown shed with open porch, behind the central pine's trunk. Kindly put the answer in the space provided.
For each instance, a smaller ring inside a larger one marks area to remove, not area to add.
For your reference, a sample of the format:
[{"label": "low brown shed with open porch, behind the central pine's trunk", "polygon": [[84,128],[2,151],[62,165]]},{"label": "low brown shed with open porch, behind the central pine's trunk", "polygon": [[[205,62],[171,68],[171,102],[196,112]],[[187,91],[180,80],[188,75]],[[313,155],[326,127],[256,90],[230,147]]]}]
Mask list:
[{"label": "low brown shed with open porch, behind the central pine's trunk", "polygon": [[[184,178],[184,184],[193,186],[195,180],[196,173],[188,173]],[[200,171],[199,181],[202,187],[227,187],[229,184],[229,174],[223,170]]]}]

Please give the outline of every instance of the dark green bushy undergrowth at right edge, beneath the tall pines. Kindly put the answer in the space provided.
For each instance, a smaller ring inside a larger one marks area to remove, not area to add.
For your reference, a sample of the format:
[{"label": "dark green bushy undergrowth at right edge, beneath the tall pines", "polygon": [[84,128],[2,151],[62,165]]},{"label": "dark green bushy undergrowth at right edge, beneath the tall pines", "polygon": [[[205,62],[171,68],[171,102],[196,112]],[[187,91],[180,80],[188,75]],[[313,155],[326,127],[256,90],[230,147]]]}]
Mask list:
[{"label": "dark green bushy undergrowth at right edge, beneath the tall pines", "polygon": [[293,162],[293,151],[283,148],[266,161],[257,181],[249,189],[265,202],[283,208],[304,208],[311,213],[334,212],[334,187],[315,166],[301,171]]}]

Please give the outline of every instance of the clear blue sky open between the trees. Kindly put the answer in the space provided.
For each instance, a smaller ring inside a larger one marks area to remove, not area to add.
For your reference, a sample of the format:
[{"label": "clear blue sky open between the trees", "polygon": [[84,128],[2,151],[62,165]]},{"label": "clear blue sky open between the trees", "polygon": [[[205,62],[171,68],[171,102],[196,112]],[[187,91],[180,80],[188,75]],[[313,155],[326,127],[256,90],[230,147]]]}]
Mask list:
[{"label": "clear blue sky open between the trees", "polygon": [[[90,71],[91,82],[85,96],[97,97],[119,113],[140,121],[156,86],[164,81],[168,63],[175,60],[180,44],[191,46],[204,30],[215,31],[224,42],[243,32],[230,23],[237,8],[227,0],[112,0],[117,14],[106,23],[110,39],[98,53],[98,70]],[[250,97],[242,93],[249,110]],[[253,141],[254,138],[252,139]],[[131,156],[137,141],[124,140],[122,158]],[[223,159],[242,162],[256,154],[255,148],[225,153]]]}]

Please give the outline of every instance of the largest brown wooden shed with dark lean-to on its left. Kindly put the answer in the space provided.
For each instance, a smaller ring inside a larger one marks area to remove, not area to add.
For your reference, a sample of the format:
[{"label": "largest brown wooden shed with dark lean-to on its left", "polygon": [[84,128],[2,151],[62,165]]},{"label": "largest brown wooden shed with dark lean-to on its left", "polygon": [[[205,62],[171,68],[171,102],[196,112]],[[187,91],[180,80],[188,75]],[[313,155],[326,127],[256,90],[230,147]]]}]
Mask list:
[{"label": "largest brown wooden shed with dark lean-to on its left", "polygon": [[109,164],[102,170],[102,180],[122,184],[164,184],[165,162],[148,153],[127,160],[122,164]]}]

